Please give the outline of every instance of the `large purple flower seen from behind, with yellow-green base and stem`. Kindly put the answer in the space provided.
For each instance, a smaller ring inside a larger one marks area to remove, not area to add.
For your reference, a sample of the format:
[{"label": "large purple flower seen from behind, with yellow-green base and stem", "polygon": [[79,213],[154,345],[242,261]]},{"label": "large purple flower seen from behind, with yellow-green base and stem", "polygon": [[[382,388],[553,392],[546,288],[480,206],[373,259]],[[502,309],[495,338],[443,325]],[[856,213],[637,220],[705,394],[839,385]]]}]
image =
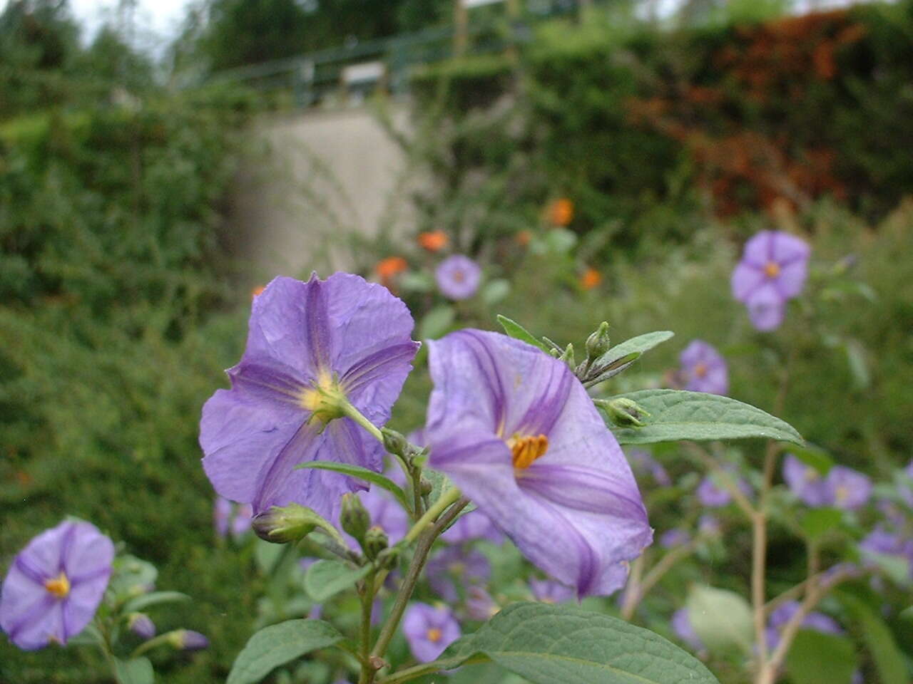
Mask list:
[{"label": "large purple flower seen from behind, with yellow-green base and stem", "polygon": [[403,302],[358,275],[273,280],[254,300],[244,356],[227,371],[232,389],[203,407],[203,467],[215,491],[254,513],[294,502],[335,519],[341,495],[360,485],[295,467],[381,471],[380,444],[339,406],[351,402],[375,425],[390,418],[418,348],[412,328]]}]

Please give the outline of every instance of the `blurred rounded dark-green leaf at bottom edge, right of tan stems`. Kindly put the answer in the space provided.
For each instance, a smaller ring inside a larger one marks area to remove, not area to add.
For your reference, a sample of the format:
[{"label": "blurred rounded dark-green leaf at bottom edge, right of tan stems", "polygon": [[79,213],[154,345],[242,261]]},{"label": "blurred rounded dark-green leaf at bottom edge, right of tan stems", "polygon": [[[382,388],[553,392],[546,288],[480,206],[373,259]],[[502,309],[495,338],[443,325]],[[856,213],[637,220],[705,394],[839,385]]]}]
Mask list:
[{"label": "blurred rounded dark-green leaf at bottom edge, right of tan stems", "polygon": [[793,684],[850,684],[856,667],[848,638],[813,629],[800,629],[786,655]]}]

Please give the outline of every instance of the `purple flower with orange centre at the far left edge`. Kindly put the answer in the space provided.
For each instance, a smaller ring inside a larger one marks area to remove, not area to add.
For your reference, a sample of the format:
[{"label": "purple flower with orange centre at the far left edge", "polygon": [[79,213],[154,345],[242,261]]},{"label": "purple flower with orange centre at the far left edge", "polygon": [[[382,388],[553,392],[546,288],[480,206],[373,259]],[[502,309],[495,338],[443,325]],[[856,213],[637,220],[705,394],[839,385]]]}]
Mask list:
[{"label": "purple flower with orange centre at the far left edge", "polygon": [[114,544],[95,525],[64,521],[13,560],[0,593],[0,628],[24,650],[66,644],[89,624],[108,587]]}]

